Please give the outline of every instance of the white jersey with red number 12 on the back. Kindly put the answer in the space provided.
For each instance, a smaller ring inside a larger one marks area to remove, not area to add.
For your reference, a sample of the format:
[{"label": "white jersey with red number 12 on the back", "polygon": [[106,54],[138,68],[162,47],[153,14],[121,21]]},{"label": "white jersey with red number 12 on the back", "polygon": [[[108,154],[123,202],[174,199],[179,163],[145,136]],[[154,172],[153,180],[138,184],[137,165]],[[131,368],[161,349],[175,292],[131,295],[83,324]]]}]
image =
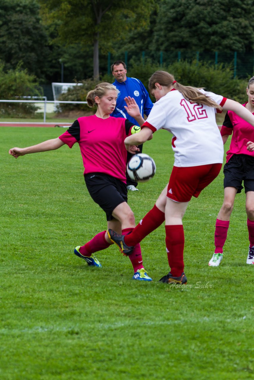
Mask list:
[{"label": "white jersey with red number 12 on the back", "polygon": [[[200,92],[221,106],[227,100],[212,92]],[[223,163],[224,148],[215,113],[215,108],[192,103],[173,89],[155,103],[142,127],[153,132],[166,129],[173,134],[174,166]]]}]

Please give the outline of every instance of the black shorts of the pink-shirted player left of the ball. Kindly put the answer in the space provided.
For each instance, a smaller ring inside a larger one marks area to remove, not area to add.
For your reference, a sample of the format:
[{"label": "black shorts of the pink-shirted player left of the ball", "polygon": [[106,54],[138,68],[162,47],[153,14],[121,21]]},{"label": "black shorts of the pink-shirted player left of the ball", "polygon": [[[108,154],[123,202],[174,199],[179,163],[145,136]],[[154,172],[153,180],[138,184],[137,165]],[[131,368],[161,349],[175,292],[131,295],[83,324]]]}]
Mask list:
[{"label": "black shorts of the pink-shirted player left of the ball", "polygon": [[112,212],[118,204],[127,202],[127,188],[120,179],[104,173],[85,175],[87,190],[94,202],[105,211],[107,220],[112,220]]}]

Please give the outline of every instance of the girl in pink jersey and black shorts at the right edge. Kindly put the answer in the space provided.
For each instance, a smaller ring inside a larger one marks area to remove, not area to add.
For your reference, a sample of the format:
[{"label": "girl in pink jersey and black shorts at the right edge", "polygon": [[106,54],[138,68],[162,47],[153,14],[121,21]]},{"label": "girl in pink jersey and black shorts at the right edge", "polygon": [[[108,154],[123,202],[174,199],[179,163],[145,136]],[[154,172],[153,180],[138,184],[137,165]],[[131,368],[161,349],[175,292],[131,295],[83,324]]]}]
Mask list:
[{"label": "girl in pink jersey and black shorts at the right edge", "polygon": [[[248,101],[243,107],[254,113],[254,77],[247,86]],[[233,133],[233,135],[232,135]],[[247,227],[249,231],[249,252],[247,264],[254,264],[254,152],[248,150],[249,140],[254,141],[254,129],[251,124],[228,111],[220,130],[223,143],[232,135],[227,161],[224,165],[224,201],[216,220],[214,233],[215,251],[209,266],[219,266],[223,258],[223,246],[227,239],[230,215],[233,211],[235,196],[243,189],[246,193]]]}]

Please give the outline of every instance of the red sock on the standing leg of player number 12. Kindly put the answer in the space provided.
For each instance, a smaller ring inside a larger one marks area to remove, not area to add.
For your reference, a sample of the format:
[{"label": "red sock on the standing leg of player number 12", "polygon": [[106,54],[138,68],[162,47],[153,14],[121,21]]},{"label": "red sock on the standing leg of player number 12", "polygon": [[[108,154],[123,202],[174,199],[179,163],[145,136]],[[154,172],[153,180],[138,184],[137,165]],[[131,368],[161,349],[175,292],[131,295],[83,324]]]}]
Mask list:
[{"label": "red sock on the standing leg of player number 12", "polygon": [[168,263],[173,277],[181,276],[184,271],[184,227],[166,225],[166,250]]}]

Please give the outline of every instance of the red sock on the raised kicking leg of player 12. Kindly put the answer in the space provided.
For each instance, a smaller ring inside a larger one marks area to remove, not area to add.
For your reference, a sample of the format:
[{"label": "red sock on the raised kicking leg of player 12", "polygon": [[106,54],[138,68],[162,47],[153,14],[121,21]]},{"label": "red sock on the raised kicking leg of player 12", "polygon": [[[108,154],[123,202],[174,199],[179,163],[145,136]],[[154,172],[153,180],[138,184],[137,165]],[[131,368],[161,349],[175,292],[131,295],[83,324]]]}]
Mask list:
[{"label": "red sock on the raised kicking leg of player 12", "polygon": [[134,228],[133,232],[125,237],[127,245],[136,245],[141,242],[145,236],[158,228],[165,220],[164,212],[160,211],[156,205],[153,206],[139,224]]}]

